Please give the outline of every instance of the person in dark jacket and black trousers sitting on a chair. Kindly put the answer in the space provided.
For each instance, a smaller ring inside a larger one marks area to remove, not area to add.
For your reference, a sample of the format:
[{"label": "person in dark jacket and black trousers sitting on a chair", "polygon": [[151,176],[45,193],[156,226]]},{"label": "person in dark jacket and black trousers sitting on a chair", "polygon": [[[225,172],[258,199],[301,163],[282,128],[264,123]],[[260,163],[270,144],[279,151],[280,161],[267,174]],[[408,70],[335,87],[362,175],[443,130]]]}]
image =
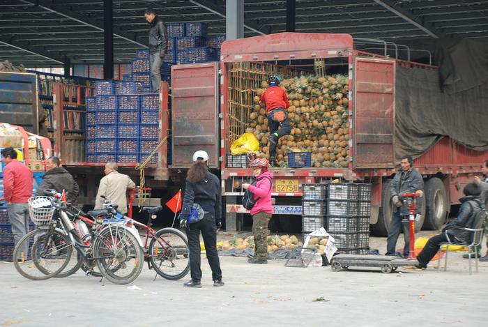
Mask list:
[{"label": "person in dark jacket and black trousers sitting on a chair", "polygon": [[425,269],[429,261],[439,251],[439,245],[444,242],[470,244],[473,241],[473,232],[464,229],[452,229],[452,227],[475,228],[476,217],[482,208],[480,197],[481,188],[477,183],[469,183],[464,187],[465,197],[459,199],[461,207],[457,219],[446,225],[441,234],[433,236],[427,241],[425,248],[418,254],[416,268]]}]

